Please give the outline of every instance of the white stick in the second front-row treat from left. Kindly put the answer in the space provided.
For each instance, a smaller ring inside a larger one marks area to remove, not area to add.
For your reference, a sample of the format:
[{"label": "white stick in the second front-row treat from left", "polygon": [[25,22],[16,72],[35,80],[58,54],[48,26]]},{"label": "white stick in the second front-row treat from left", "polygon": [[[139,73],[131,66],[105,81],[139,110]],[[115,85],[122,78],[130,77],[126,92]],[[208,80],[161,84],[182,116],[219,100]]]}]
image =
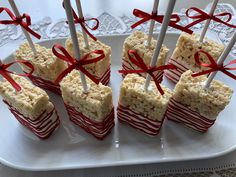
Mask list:
[{"label": "white stick in the second front-row treat from left", "polygon": [[[76,34],[76,29],[75,29],[75,23],[74,23],[74,17],[71,9],[71,4],[70,0],[64,0],[65,3],[65,10],[66,10],[66,16],[69,24],[69,29],[70,29],[70,34],[71,34],[71,39],[73,42],[73,49],[75,52],[75,57],[77,60],[80,59],[80,48],[79,48],[79,42]],[[86,78],[84,73],[80,71],[80,79],[82,82],[83,90],[84,92],[88,92],[88,85],[86,82]]]}]

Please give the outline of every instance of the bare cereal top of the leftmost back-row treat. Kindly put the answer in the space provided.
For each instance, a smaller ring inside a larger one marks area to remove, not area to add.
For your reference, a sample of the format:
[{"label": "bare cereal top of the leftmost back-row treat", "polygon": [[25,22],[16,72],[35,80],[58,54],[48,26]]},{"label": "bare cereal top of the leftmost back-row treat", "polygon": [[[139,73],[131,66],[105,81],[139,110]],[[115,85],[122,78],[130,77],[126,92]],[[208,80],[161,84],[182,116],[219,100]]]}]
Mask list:
[{"label": "bare cereal top of the leftmost back-row treat", "polygon": [[[51,49],[35,44],[37,55],[34,56],[28,43],[22,44],[15,52],[15,60],[29,61],[34,66],[33,75],[49,81],[55,81],[58,75],[67,68],[67,64],[58,59]],[[24,71],[28,68],[21,65]]]}]

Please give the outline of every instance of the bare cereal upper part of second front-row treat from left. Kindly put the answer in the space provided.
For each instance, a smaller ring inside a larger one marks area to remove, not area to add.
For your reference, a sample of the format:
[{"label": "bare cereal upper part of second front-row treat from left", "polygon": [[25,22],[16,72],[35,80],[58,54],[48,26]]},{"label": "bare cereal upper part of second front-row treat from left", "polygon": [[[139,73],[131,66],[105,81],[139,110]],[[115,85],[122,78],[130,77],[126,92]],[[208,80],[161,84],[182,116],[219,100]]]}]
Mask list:
[{"label": "bare cereal upper part of second front-row treat from left", "polygon": [[102,122],[112,111],[112,90],[87,78],[89,92],[84,93],[79,71],[73,70],[60,82],[65,104],[74,107],[86,117]]}]

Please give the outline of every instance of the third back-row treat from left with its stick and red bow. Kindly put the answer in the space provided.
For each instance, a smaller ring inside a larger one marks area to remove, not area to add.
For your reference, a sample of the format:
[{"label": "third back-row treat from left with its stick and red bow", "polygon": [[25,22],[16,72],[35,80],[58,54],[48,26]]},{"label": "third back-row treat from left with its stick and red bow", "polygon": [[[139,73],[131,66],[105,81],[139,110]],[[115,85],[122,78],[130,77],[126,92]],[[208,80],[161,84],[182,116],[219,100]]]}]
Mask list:
[{"label": "third back-row treat from left with its stick and red bow", "polygon": [[[136,17],[141,18],[141,20],[133,24],[131,28],[136,28],[138,25],[141,25],[151,20],[150,28],[149,28],[149,35],[146,35],[139,31],[135,31],[125,40],[124,45],[123,45],[123,54],[122,54],[122,70],[137,69],[137,67],[133,65],[133,63],[129,60],[129,57],[128,57],[129,50],[136,50],[138,54],[141,56],[141,58],[144,59],[144,62],[146,63],[146,65],[150,65],[151,59],[154,54],[154,49],[157,43],[157,41],[153,39],[153,28],[154,28],[155,22],[163,23],[163,19],[164,19],[164,15],[157,14],[158,3],[159,3],[158,0],[154,0],[152,14],[148,14],[139,9],[134,9],[133,14]],[[180,17],[177,14],[171,15],[170,23],[168,25],[173,28],[176,28],[176,29],[179,29],[179,30],[182,30],[191,34],[192,30],[179,25],[178,24],[179,21],[180,21]],[[169,49],[166,46],[162,45],[159,58],[156,60],[157,67],[165,64],[168,51]],[[146,77],[145,73],[139,73],[139,75]],[[163,71],[157,71],[155,75],[159,78],[159,82],[161,82],[163,78]],[[123,74],[122,76],[125,77],[125,74]]]}]

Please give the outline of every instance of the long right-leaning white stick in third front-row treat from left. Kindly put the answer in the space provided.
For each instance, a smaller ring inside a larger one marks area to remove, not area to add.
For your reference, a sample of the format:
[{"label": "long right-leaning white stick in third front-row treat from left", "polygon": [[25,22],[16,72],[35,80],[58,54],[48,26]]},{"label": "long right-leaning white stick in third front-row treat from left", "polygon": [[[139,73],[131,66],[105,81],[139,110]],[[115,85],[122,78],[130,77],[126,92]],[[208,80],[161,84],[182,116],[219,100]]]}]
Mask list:
[{"label": "long right-leaning white stick in third front-row treat from left", "polygon": [[[157,40],[157,45],[156,45],[156,48],[155,48],[155,51],[154,51],[154,55],[152,57],[151,67],[155,66],[156,63],[157,63],[157,59],[158,59],[158,56],[160,54],[161,47],[162,47],[162,44],[163,44],[163,41],[164,41],[164,38],[165,38],[165,35],[166,35],[166,31],[167,31],[169,22],[170,22],[170,17],[171,17],[171,14],[172,14],[173,10],[174,10],[174,7],[175,7],[175,2],[176,2],[176,0],[170,0],[169,1],[168,8],[167,8],[167,11],[166,11],[166,14],[165,14],[162,26],[161,26],[161,32],[159,34],[159,37],[158,37],[158,40]],[[145,91],[148,90],[148,86],[150,84],[150,81],[151,81],[151,76],[149,74],[147,74],[146,82],[145,82],[145,85],[144,85],[144,90]]]}]

